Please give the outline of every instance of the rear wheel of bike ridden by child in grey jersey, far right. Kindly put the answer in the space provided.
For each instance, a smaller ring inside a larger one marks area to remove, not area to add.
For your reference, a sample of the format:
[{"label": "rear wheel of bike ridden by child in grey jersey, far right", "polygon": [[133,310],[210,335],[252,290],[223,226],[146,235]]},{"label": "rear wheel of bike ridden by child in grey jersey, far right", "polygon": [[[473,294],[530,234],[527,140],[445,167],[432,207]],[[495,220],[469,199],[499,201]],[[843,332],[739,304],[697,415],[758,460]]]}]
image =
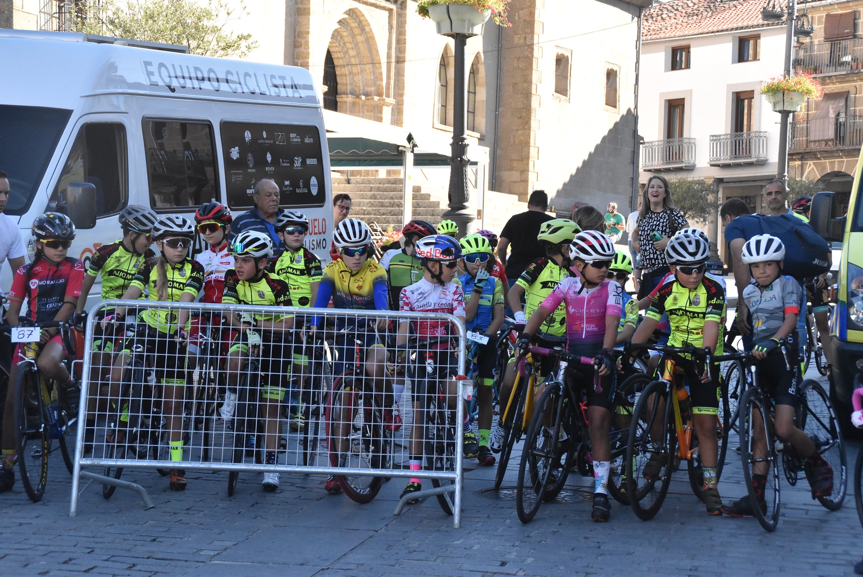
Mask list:
[{"label": "rear wheel of bike ridden by child in grey jersey, far right", "polygon": [[819,497],[818,502],[828,510],[839,510],[845,500],[847,485],[845,443],[842,442],[839,421],[827,392],[817,381],[803,381],[797,395],[802,405],[798,427],[815,442],[818,453],[833,469],[833,492],[827,497]]}]

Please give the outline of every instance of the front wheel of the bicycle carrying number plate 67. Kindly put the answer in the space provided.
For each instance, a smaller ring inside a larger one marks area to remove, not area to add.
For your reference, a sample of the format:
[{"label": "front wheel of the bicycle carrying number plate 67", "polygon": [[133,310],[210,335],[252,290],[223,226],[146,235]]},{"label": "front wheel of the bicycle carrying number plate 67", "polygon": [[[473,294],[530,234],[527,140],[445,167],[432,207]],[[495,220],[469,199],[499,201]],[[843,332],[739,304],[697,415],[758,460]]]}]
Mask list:
[{"label": "front wheel of the bicycle carrying number plate 67", "polygon": [[15,383],[15,448],[21,482],[31,501],[45,493],[51,438],[39,383],[39,372],[30,363],[19,367]]}]

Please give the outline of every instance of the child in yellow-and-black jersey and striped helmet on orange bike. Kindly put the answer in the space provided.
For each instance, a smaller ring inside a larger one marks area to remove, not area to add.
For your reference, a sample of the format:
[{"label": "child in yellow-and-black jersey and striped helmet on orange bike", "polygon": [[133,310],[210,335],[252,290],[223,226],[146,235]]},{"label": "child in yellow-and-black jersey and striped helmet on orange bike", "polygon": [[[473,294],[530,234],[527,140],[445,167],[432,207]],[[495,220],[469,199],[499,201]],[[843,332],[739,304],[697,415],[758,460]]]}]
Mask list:
[{"label": "child in yellow-and-black jersey and striped helmet on orange bike", "polygon": [[[720,321],[725,308],[725,294],[719,282],[704,275],[709,257],[709,244],[696,234],[677,234],[665,248],[665,259],[671,265],[673,282],[665,282],[656,300],[647,310],[633,335],[633,343],[644,343],[656,329],[659,319],[668,313],[671,324],[670,346],[707,347],[715,352],[720,343]],[[708,515],[721,515],[722,499],[717,488],[716,464],[719,445],[716,441],[716,415],[719,414],[720,389],[718,371],[696,374],[694,366],[677,362],[690,385],[693,422],[698,434],[698,451],[704,475],[703,501]],[[713,374],[711,374],[713,373]],[[663,378],[674,376],[667,371]],[[652,453],[644,467],[646,479],[658,476],[667,462],[665,453]]]}]

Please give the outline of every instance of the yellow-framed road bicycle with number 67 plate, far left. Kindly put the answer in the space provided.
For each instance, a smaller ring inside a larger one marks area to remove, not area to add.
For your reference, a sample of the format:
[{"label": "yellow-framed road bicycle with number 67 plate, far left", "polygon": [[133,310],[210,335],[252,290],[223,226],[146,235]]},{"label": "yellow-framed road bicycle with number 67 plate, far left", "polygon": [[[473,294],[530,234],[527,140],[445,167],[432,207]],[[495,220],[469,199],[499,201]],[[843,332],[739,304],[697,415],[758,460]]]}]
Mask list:
[{"label": "yellow-framed road bicycle with number 67 plate, far left", "polygon": [[[57,441],[66,469],[71,473],[72,453],[78,434],[79,388],[65,390],[54,379],[41,375],[36,359],[41,349],[41,331],[57,328],[66,358],[62,363],[72,374],[75,348],[72,343],[72,325],[65,321],[34,322],[20,317],[18,338],[22,352],[17,362],[15,379],[14,415],[16,462],[21,472],[24,491],[37,503],[45,493],[48,473],[48,455]],[[4,327],[4,332],[13,327]],[[26,334],[25,334],[26,333]]]}]

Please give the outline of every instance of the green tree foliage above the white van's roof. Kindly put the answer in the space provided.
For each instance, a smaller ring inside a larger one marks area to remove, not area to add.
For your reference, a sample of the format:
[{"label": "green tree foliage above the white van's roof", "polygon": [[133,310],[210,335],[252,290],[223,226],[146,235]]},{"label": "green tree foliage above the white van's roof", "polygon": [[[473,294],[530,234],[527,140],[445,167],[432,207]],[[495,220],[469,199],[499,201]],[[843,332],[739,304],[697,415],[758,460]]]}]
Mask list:
[{"label": "green tree foliage above the white van's roof", "polygon": [[250,34],[226,30],[228,22],[247,16],[245,3],[227,0],[102,0],[76,6],[77,32],[182,44],[199,56],[244,58],[257,48]]}]

